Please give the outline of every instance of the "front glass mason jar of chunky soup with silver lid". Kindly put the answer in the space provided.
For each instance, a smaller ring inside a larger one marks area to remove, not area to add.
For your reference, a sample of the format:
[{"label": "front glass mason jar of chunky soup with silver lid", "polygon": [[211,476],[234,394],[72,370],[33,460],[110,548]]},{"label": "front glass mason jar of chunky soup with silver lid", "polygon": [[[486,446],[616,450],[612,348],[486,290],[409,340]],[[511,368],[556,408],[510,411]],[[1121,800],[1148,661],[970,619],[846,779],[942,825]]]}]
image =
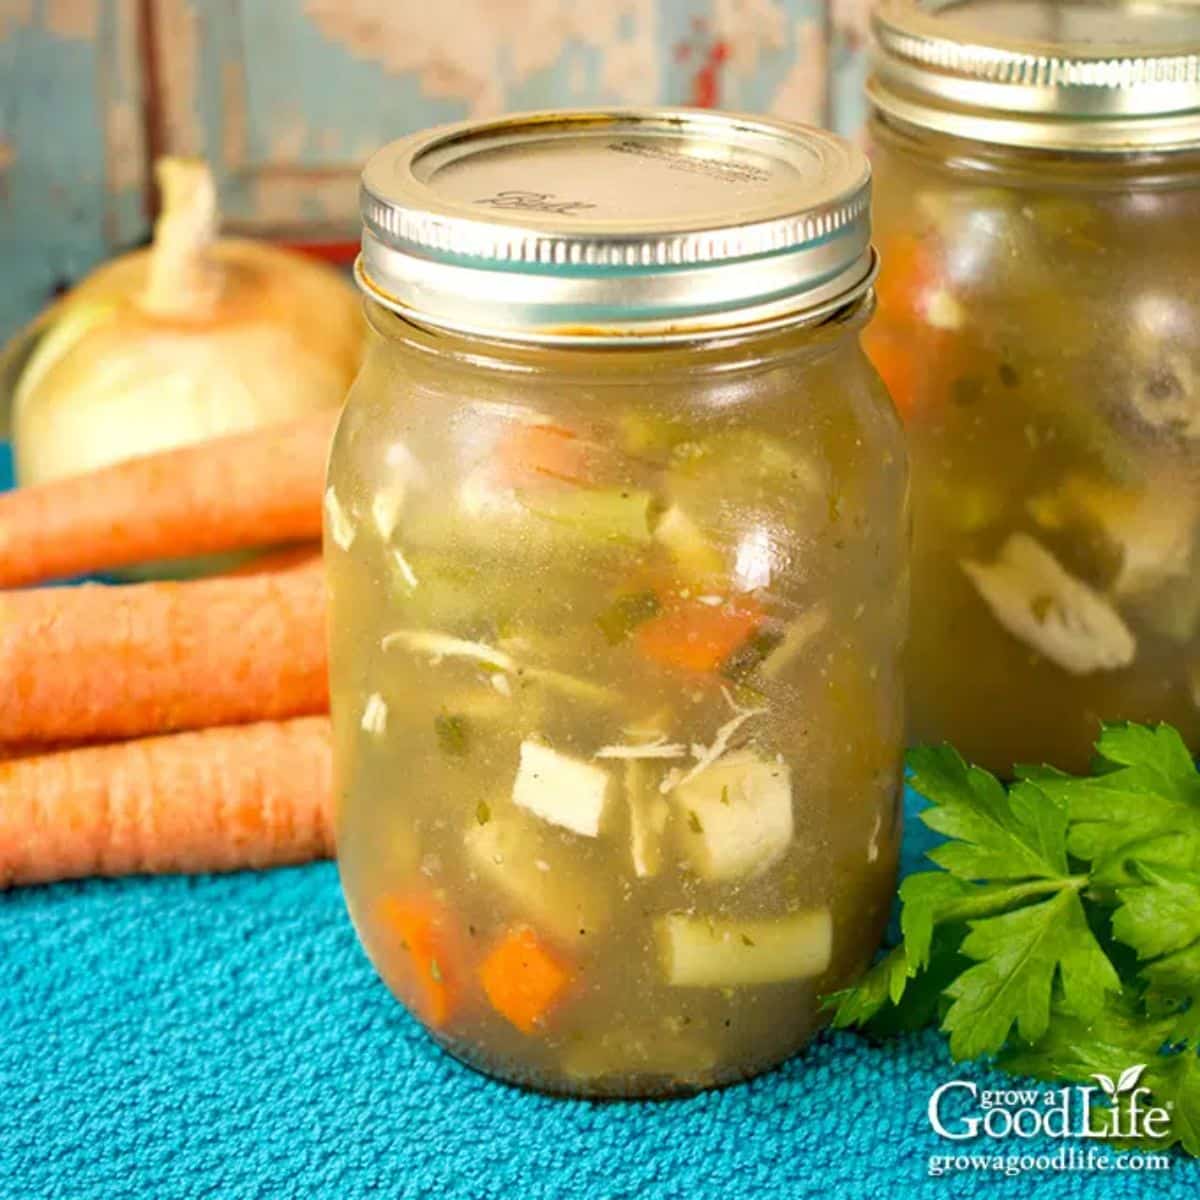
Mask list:
[{"label": "front glass mason jar of chunky soup with silver lid", "polygon": [[366,167],[340,866],[379,973],[478,1068],[743,1079],[878,942],[907,485],[859,348],[868,180],[832,134],[671,112]]}]

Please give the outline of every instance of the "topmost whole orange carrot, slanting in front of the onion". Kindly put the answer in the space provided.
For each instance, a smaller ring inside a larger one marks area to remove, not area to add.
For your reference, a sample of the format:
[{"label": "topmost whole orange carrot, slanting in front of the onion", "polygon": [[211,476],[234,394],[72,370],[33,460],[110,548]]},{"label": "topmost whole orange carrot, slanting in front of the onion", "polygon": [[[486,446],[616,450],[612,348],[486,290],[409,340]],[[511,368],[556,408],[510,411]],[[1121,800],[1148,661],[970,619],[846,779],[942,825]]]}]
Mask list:
[{"label": "topmost whole orange carrot, slanting in front of the onion", "polygon": [[0,587],[320,536],[336,413],[0,496]]}]

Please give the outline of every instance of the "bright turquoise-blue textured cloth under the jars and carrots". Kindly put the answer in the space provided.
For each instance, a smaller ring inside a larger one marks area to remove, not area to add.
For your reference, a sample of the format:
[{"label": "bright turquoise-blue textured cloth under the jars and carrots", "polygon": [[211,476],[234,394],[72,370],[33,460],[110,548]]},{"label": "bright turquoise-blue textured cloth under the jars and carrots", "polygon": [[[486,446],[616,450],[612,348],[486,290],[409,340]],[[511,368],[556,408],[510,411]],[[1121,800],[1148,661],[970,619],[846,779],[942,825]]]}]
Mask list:
[{"label": "bright turquoise-blue textured cloth under the jars and carrots", "polygon": [[[910,820],[907,869],[926,842]],[[691,1099],[551,1099],[432,1045],[359,950],[330,864],[0,895],[0,1200],[1200,1194],[1200,1164],[1176,1154],[1153,1172],[931,1178],[930,1156],[1012,1148],[935,1135],[930,1093],[964,1076],[1013,1086],[932,1031],[841,1033]]]}]

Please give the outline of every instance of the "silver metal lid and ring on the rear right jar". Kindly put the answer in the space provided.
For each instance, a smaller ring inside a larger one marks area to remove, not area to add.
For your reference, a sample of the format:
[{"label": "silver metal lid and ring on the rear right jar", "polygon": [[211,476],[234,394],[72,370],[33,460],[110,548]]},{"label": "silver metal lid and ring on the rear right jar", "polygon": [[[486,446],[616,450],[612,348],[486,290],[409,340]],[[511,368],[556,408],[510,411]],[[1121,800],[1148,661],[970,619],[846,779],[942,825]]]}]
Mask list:
[{"label": "silver metal lid and ring on the rear right jar", "polygon": [[1200,148],[1200,0],[881,0],[884,115],[1000,145]]}]

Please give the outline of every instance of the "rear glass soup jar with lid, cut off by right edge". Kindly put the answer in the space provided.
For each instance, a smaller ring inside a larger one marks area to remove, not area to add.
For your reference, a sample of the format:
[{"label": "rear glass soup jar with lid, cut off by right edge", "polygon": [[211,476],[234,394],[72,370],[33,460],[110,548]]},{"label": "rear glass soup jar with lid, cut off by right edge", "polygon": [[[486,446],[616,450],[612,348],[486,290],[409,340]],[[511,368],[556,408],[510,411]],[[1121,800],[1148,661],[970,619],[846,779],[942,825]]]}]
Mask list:
[{"label": "rear glass soup jar with lid, cut off by right edge", "polygon": [[1200,749],[1200,8],[886,0],[876,37],[911,737],[1002,772],[1082,768],[1102,720]]}]

